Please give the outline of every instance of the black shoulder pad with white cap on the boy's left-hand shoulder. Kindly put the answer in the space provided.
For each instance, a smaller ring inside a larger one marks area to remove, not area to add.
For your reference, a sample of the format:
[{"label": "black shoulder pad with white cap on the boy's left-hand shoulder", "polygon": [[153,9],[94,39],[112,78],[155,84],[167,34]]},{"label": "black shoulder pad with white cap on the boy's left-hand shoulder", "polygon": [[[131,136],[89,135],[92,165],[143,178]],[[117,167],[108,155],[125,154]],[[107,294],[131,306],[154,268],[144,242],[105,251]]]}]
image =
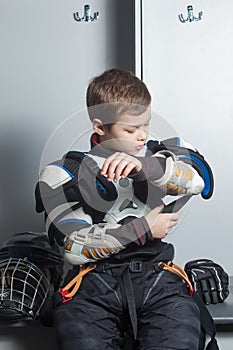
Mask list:
[{"label": "black shoulder pad with white cap on the boy's left-hand shoulder", "polygon": [[115,186],[100,174],[95,160],[78,151],[68,152],[41,171],[35,195],[37,212],[74,201],[106,212],[117,198]]}]

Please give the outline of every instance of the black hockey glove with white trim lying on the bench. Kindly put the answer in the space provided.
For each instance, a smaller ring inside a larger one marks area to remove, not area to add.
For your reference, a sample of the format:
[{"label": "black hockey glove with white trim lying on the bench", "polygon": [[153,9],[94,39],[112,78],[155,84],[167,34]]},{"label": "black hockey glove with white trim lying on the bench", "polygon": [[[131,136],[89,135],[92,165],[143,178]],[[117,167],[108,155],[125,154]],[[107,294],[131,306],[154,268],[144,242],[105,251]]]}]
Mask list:
[{"label": "black hockey glove with white trim lying on the bench", "polygon": [[219,264],[208,259],[192,260],[184,270],[205,304],[222,303],[227,298],[229,277]]}]

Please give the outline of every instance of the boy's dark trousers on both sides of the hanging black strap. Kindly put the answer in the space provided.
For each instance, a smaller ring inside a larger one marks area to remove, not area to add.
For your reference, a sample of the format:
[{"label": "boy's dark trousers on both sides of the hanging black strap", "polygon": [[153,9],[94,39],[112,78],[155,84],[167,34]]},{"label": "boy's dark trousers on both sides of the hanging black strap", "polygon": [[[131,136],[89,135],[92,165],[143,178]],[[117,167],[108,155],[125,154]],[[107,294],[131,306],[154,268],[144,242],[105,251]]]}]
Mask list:
[{"label": "boy's dark trousers on both sides of the hanging black strap", "polygon": [[[168,271],[131,273],[137,312],[134,350],[197,350],[199,309],[183,281]],[[111,270],[88,273],[73,300],[59,305],[59,350],[121,350],[130,319],[125,293]],[[126,349],[129,350],[129,349]]]}]

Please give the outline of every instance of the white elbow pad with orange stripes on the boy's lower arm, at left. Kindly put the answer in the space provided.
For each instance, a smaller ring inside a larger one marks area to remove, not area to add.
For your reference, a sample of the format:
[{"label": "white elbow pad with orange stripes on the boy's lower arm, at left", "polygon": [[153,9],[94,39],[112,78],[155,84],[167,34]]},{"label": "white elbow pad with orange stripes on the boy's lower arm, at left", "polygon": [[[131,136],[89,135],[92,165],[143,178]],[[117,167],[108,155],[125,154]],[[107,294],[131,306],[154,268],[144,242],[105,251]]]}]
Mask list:
[{"label": "white elbow pad with orange stripes on the boy's lower arm, at left", "polygon": [[107,229],[118,224],[96,224],[74,231],[65,241],[64,257],[72,265],[82,265],[109,257],[124,249],[124,246]]}]

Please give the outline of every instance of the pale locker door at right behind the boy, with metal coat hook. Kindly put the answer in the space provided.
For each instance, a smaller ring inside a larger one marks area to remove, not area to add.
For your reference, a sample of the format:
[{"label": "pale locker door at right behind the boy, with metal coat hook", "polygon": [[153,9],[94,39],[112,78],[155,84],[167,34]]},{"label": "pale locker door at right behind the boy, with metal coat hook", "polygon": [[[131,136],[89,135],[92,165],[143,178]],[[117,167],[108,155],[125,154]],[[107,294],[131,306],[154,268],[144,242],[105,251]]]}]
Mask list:
[{"label": "pale locker door at right behind the boy, with metal coat hook", "polygon": [[208,257],[232,274],[232,2],[140,4],[137,61],[153,95],[153,110],[166,120],[169,132],[175,130],[205,154],[215,176],[213,197],[194,198],[169,241],[177,262]]}]

